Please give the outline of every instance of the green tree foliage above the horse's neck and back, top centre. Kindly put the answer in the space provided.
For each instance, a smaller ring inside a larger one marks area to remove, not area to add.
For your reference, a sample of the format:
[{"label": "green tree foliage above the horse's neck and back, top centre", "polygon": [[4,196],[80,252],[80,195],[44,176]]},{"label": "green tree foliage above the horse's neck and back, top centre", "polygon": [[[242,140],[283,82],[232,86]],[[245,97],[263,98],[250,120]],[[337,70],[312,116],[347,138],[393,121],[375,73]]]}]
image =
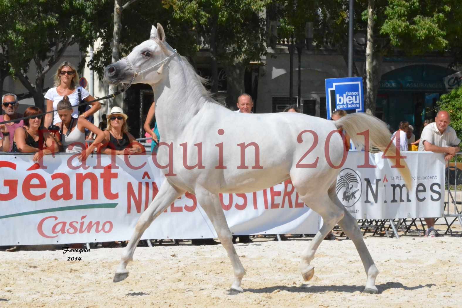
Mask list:
[{"label": "green tree foliage above the horse's neck and back, top centre", "polygon": [[[163,0],[173,16],[204,40],[211,54],[212,92],[218,91],[218,63],[242,67],[266,54],[266,18],[259,13],[271,0]],[[201,44],[202,45],[202,44]],[[237,86],[236,88],[242,88]]]}]

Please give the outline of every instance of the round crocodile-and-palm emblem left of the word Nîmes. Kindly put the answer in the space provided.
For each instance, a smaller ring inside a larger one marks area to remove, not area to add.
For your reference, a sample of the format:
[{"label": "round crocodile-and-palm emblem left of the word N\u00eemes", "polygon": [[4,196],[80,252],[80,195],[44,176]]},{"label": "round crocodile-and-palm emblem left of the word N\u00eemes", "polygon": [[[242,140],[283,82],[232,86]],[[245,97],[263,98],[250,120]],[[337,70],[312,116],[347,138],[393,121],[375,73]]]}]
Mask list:
[{"label": "round crocodile-and-palm emblem left of the word N\u00eemes", "polygon": [[345,205],[345,207],[352,207],[358,202],[359,198],[361,198],[361,193],[363,191],[361,178],[353,169],[345,168],[340,171],[337,177],[335,191],[337,192],[337,197],[340,199],[340,202]]}]

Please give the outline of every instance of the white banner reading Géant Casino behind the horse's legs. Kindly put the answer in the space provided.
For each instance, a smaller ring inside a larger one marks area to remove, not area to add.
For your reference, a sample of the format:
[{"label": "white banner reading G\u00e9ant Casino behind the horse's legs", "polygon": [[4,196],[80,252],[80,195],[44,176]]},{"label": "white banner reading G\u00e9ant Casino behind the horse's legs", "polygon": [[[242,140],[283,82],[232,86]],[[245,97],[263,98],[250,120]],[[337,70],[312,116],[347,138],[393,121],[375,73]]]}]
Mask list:
[{"label": "white banner reading G\u00e9ant Casino behind the horse's legs", "polygon": [[[0,245],[129,240],[141,213],[164,180],[150,156],[0,155]],[[231,231],[314,234],[319,215],[298,199],[291,181],[255,193],[220,195]],[[217,237],[194,195],[187,193],[146,230],[142,239]]]}]

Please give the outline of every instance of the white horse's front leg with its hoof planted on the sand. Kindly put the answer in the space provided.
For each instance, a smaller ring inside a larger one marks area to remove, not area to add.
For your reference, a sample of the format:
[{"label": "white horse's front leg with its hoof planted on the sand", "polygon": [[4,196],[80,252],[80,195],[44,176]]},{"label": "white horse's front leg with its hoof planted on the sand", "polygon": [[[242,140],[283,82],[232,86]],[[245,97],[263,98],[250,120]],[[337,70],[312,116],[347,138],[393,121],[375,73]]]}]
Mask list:
[{"label": "white horse's front leg with its hoof planted on the sand", "polygon": [[236,253],[236,249],[232,244],[232,235],[226,222],[225,213],[221,208],[221,203],[217,194],[210,193],[206,189],[196,189],[196,197],[201,204],[202,209],[206,212],[208,218],[213,224],[215,231],[217,232],[218,238],[221,244],[226,249],[228,257],[231,260],[231,264],[234,270],[234,281],[231,285],[231,291],[243,292],[241,288],[241,281],[244,277],[245,271],[242,266],[241,260]]}]

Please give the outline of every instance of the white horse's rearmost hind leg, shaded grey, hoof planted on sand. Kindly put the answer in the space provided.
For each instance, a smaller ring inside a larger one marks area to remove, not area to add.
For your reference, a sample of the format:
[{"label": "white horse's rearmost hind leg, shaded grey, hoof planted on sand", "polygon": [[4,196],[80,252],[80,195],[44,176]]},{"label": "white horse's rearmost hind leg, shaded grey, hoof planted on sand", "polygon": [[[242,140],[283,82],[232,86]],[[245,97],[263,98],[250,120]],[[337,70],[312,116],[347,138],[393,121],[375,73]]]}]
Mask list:
[{"label": "white horse's rearmost hind leg, shaded grey, hoof planted on sand", "polygon": [[339,226],[342,228],[343,232],[345,232],[346,236],[348,236],[353,241],[354,246],[356,246],[356,250],[358,250],[359,257],[361,258],[361,261],[363,261],[364,269],[367,275],[367,282],[364,292],[376,294],[378,290],[375,286],[375,280],[378,275],[378,270],[374,260],[372,260],[369,250],[366,247],[363,236],[361,235],[361,231],[358,227],[358,222],[350,213],[348,213],[348,211],[346,211],[345,207],[337,198],[337,194],[335,192],[329,193],[329,197],[332,199],[332,201],[334,201],[335,204],[339,206],[339,208],[345,212],[344,217],[339,221]]}]

